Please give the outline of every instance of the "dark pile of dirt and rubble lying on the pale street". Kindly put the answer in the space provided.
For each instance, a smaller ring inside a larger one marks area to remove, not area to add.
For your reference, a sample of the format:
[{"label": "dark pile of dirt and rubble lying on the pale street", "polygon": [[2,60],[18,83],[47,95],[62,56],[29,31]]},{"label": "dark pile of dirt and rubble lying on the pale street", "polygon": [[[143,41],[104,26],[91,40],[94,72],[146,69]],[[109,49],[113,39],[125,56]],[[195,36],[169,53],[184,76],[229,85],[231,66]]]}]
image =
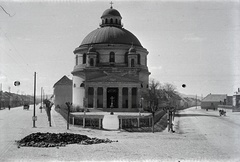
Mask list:
[{"label": "dark pile of dirt and rubble lying on the pale street", "polygon": [[32,133],[20,141],[16,141],[18,147],[63,147],[67,144],[99,144],[118,142],[109,139],[90,138],[86,135],[73,133]]}]

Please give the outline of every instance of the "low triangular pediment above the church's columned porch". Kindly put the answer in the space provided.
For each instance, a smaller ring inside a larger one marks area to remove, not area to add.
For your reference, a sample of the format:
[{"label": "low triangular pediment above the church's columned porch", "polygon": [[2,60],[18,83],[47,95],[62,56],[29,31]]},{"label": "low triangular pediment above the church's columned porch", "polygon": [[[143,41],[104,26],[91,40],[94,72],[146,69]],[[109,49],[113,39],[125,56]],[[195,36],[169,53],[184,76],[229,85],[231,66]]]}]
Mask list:
[{"label": "low triangular pediment above the church's columned porch", "polygon": [[126,76],[119,76],[119,75],[107,75],[102,76],[94,79],[88,80],[88,82],[138,82],[136,79],[128,78]]}]

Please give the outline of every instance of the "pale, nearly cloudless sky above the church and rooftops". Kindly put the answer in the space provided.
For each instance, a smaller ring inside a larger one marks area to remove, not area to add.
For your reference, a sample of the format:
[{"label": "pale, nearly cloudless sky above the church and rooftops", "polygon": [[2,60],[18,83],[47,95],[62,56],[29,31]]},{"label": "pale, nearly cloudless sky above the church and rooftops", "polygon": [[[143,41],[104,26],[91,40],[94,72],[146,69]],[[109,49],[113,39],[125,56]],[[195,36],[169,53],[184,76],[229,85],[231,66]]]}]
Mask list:
[{"label": "pale, nearly cloudless sky above the church and rooftops", "polygon": [[[0,83],[3,91],[37,94],[64,75],[73,51],[99,28],[110,1],[0,0]],[[233,95],[240,88],[239,0],[113,0],[123,27],[149,51],[150,78],[188,95]],[[20,86],[14,86],[20,81]],[[182,84],[186,84],[183,88]]]}]

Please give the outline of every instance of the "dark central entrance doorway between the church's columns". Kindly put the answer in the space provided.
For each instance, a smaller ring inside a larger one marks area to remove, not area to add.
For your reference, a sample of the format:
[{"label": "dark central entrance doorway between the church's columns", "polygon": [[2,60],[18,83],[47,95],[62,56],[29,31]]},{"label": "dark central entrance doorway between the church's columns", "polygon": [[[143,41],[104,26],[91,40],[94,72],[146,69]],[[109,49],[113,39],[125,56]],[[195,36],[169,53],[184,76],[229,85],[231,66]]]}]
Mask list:
[{"label": "dark central entrance doorway between the church's columns", "polygon": [[118,108],[118,88],[107,88],[107,108]]}]

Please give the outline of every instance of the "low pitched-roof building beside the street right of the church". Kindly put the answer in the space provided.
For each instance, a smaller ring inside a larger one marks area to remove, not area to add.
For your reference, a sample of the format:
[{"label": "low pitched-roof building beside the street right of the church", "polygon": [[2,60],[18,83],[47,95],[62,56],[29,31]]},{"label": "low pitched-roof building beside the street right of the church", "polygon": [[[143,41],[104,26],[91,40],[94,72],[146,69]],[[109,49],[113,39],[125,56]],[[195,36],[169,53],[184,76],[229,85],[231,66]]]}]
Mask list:
[{"label": "low pitched-roof building beside the street right of the church", "polygon": [[203,98],[201,102],[202,109],[213,109],[216,110],[218,105],[226,105],[227,95],[226,94],[209,94]]}]

